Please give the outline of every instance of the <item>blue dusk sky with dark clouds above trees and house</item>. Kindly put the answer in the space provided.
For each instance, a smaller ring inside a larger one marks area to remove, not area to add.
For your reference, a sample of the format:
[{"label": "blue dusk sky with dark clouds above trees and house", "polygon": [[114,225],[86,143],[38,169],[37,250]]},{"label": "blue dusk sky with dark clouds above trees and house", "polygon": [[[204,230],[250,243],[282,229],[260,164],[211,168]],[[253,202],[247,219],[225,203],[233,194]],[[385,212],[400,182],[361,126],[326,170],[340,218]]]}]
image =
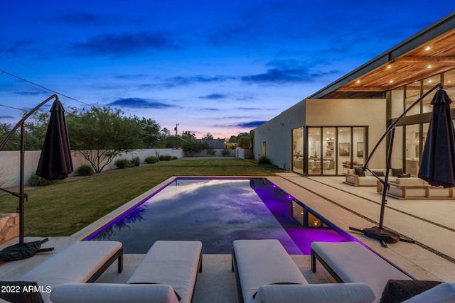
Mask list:
[{"label": "blue dusk sky with dark clouds above trees and house", "polygon": [[60,96],[65,106],[225,138],[454,10],[449,0],[6,1],[0,121],[15,124],[17,109],[53,94],[46,87],[70,97]]}]

